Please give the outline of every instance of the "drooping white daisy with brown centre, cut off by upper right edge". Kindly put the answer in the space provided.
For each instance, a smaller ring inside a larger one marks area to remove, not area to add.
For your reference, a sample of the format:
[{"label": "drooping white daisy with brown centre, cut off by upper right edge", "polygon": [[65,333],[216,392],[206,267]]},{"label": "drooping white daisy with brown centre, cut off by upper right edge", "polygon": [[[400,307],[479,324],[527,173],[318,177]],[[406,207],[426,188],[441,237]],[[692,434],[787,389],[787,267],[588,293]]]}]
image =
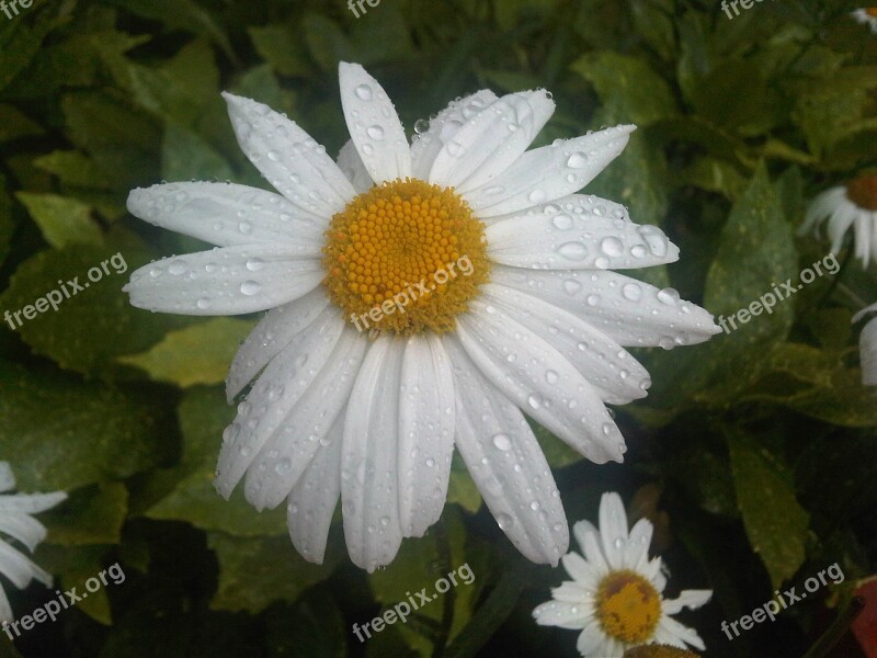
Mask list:
[{"label": "drooping white daisy with brown centre, cut off by upper right edge", "polygon": [[820,237],[819,227],[825,219],[829,222],[831,252],[836,254],[841,251],[843,237],[852,226],[856,257],[867,268],[872,254],[877,252],[877,175],[861,175],[846,185],[819,194],[807,208],[807,218],[798,235],[812,231]]}]

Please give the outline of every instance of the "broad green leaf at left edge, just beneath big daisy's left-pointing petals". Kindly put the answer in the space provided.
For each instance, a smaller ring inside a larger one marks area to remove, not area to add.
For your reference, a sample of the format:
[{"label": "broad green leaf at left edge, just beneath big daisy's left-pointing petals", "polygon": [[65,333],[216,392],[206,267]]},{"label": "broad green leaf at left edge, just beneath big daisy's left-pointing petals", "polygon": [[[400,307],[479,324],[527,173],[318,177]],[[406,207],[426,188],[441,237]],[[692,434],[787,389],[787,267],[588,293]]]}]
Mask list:
[{"label": "broad green leaf at left edge, just beneath big daisy's left-pointing petals", "polygon": [[[11,314],[24,309],[15,330],[36,353],[61,367],[84,374],[130,375],[134,371],[117,364],[117,356],[146,350],[169,329],[192,322],[191,318],[134,308],[122,292],[127,282],[123,275],[156,256],[138,238],[121,230],[107,234],[104,247],[77,245],[42,251],[19,266],[0,304]],[[73,280],[81,291],[69,283]],[[41,299],[48,300],[43,313]],[[52,299],[57,310],[50,306]],[[37,313],[27,319],[23,314],[32,306]],[[100,340],[94,340],[95,336]]]}]

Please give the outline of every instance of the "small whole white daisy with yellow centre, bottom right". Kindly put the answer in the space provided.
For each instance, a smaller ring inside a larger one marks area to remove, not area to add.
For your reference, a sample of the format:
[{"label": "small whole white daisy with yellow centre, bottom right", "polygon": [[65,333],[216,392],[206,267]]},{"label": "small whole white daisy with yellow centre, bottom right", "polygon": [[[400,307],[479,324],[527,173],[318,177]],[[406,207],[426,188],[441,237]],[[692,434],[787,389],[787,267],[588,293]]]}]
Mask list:
[{"label": "small whole white daisy with yellow centre, bottom right", "polygon": [[563,556],[572,580],[551,590],[554,600],[533,611],[537,624],[581,629],[577,648],[582,656],[622,658],[627,649],[648,644],[705,648],[697,633],[670,615],[699,608],[713,591],[683,590],[679,599],[661,595],[667,579],[661,558],[649,559],[652,525],[647,519],[628,534],[622,499],[608,492],[600,500],[600,530],[579,521],[572,531],[584,557]]}]

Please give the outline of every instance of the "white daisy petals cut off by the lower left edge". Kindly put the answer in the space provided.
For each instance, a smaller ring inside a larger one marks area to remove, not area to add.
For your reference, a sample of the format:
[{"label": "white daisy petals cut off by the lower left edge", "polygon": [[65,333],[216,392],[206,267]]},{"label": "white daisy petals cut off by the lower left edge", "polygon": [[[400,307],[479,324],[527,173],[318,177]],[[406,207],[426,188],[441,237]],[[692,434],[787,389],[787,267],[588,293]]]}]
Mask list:
[{"label": "white daisy petals cut off by the lower left edge", "polygon": [[[15,476],[8,462],[0,462],[0,494],[15,488]],[[24,589],[33,578],[52,587],[52,574],[37,567],[29,557],[13,548],[8,540],[15,540],[31,553],[46,538],[46,529],[32,514],[54,508],[67,498],[64,491],[53,494],[5,494],[0,496],[0,575],[19,589]],[[0,622],[13,620],[9,599],[0,586]]]}]

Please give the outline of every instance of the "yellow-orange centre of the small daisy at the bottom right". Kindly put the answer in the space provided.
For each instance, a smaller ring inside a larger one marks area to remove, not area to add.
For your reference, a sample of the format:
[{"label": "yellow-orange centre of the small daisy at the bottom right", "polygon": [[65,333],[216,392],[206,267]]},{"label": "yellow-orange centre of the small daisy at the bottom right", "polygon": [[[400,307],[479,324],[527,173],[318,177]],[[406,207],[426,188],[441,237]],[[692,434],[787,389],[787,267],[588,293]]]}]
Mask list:
[{"label": "yellow-orange centre of the small daisy at the bottom right", "polygon": [[649,639],[661,619],[661,595],[635,571],[613,571],[600,583],[596,617],[606,635],[633,644]]}]

